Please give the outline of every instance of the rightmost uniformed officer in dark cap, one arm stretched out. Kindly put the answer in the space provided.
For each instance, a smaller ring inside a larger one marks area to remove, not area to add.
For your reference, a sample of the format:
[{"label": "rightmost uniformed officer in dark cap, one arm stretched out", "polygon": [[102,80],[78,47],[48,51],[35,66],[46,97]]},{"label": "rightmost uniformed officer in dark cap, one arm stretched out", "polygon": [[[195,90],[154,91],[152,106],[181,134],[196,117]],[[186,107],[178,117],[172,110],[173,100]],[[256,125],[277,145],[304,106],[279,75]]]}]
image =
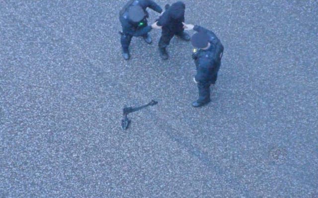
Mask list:
[{"label": "rightmost uniformed officer in dark cap, one arm stretched out", "polygon": [[218,37],[210,30],[198,25],[184,24],[185,30],[195,30],[191,43],[195,47],[192,58],[194,59],[197,73],[193,80],[199,89],[199,99],[192,103],[193,107],[201,107],[210,100],[210,86],[215,85],[224,47]]}]

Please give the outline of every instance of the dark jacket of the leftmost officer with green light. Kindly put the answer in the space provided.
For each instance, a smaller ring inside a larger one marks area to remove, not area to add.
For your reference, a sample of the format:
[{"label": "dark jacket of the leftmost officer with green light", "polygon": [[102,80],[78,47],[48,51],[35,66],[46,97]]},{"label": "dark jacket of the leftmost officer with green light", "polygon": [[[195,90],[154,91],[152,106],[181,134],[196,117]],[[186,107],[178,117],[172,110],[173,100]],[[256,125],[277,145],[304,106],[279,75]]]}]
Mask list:
[{"label": "dark jacket of the leftmost officer with green light", "polygon": [[[146,13],[146,9],[150,7],[151,9],[161,13],[161,7],[155,3],[153,0],[130,0],[124,8],[119,12],[119,20],[123,28],[123,33],[130,36],[142,36],[151,31],[152,27],[147,25],[147,18],[144,19],[145,26],[140,27],[138,23],[133,23],[129,20],[128,8],[131,5],[140,5]],[[148,16],[148,14],[147,14]]]}]

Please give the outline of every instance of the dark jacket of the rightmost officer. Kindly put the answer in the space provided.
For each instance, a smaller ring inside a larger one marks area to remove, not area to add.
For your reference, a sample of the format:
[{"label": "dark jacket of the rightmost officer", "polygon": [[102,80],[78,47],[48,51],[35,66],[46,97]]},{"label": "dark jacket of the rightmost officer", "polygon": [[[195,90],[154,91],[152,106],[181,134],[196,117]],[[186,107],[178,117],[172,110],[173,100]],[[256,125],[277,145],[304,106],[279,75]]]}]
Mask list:
[{"label": "dark jacket of the rightmost officer", "polygon": [[195,61],[197,74],[195,80],[201,83],[215,83],[215,77],[220,69],[224,47],[218,37],[212,32],[198,25],[197,32],[205,32],[210,37],[210,48],[207,50],[194,49],[192,58]]}]

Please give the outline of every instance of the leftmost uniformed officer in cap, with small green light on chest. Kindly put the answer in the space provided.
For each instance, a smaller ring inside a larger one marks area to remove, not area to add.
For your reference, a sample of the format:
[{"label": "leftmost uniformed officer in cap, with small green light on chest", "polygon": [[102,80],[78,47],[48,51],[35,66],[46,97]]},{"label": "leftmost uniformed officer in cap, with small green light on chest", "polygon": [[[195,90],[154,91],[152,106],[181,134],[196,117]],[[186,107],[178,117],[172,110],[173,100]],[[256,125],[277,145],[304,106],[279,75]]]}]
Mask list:
[{"label": "leftmost uniformed officer in cap, with small green light on chest", "polygon": [[151,44],[149,32],[152,28],[159,29],[156,23],[148,25],[149,14],[146,11],[148,7],[162,13],[161,7],[153,0],[130,0],[119,12],[119,20],[123,28],[120,41],[125,60],[130,58],[128,48],[133,36],[142,36],[148,44]]}]

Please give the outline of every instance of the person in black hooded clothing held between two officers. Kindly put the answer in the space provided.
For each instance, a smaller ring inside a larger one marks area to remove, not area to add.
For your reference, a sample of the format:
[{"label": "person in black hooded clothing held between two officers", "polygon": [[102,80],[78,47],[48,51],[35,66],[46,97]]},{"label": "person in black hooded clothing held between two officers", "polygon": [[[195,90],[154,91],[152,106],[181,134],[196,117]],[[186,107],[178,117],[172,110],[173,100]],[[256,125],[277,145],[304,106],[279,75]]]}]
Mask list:
[{"label": "person in black hooded clothing held between two officers", "polygon": [[184,11],[185,4],[182,1],[165,5],[165,12],[159,17],[157,25],[161,27],[161,38],[159,40],[159,53],[163,60],[168,59],[166,47],[174,35],[185,41],[190,41],[191,37],[184,32]]}]

